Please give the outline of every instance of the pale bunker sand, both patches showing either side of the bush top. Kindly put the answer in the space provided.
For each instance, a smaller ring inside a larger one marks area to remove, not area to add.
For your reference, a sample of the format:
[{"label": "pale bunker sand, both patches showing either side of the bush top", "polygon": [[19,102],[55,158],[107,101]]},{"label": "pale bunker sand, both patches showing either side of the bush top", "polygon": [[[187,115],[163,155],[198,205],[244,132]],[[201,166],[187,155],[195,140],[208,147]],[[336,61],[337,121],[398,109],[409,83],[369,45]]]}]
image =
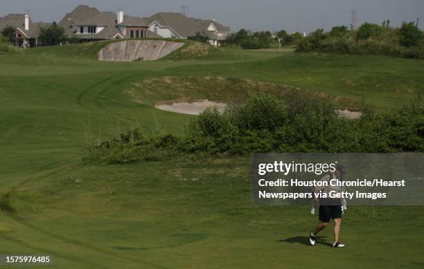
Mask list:
[{"label": "pale bunker sand, both patches showing either side of the bush top", "polygon": [[[209,106],[215,106],[218,108],[218,111],[224,111],[226,103],[222,102],[213,102],[209,100],[194,100],[193,102],[174,102],[168,104],[157,104],[157,109],[161,109],[164,111],[183,113],[188,115],[199,115],[207,109]],[[361,118],[362,113],[356,111],[350,111],[348,109],[337,110],[339,115],[346,119],[359,119]]]}]

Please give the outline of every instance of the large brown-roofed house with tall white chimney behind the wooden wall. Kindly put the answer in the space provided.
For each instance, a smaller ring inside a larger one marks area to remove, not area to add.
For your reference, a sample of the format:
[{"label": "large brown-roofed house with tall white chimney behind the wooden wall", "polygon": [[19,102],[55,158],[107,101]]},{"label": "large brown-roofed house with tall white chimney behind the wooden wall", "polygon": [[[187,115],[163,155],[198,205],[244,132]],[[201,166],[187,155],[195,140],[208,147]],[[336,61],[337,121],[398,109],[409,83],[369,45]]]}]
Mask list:
[{"label": "large brown-roofed house with tall white chimney behind the wooden wall", "polygon": [[122,10],[100,12],[97,8],[77,6],[59,23],[65,34],[81,41],[141,38],[155,36],[148,33],[148,25],[141,17],[124,15]]}]

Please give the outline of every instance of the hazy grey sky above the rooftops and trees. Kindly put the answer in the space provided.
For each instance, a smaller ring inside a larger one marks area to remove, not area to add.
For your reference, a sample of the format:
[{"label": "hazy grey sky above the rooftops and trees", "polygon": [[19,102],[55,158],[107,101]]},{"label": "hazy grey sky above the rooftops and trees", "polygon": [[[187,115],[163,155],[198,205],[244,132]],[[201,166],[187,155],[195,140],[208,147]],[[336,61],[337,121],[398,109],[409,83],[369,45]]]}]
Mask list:
[{"label": "hazy grey sky above the rooftops and trees", "polygon": [[100,11],[116,11],[149,17],[155,12],[181,12],[188,6],[188,16],[217,19],[233,30],[278,30],[310,32],[335,25],[348,26],[351,10],[357,21],[381,24],[390,19],[392,26],[421,18],[424,28],[423,0],[0,0],[0,17],[9,13],[30,12],[33,21],[60,21],[78,4]]}]

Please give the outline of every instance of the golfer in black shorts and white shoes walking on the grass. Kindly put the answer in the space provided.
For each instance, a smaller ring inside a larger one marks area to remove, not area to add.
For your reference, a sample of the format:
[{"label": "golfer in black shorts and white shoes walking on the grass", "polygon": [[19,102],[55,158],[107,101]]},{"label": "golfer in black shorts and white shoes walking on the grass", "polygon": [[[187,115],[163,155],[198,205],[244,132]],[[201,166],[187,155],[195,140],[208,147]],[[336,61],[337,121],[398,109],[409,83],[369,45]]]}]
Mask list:
[{"label": "golfer in black shorts and white shoes walking on the grass", "polygon": [[[330,192],[344,192],[343,187],[330,186],[330,180],[337,179],[342,180],[344,174],[346,174],[345,168],[342,165],[338,165],[333,172],[333,174],[328,174],[321,178],[321,181],[328,181],[328,186],[324,187],[315,187],[314,192],[325,192],[329,194]],[[342,225],[342,215],[344,210],[346,209],[346,205],[344,204],[343,198],[321,198],[318,200],[314,196],[314,203],[316,206],[319,205],[319,223],[315,230],[310,232],[310,244],[315,245],[315,240],[317,234],[327,227],[330,219],[334,220],[334,241],[333,248],[344,248],[344,244],[339,242],[339,234],[340,234],[340,226]]]}]

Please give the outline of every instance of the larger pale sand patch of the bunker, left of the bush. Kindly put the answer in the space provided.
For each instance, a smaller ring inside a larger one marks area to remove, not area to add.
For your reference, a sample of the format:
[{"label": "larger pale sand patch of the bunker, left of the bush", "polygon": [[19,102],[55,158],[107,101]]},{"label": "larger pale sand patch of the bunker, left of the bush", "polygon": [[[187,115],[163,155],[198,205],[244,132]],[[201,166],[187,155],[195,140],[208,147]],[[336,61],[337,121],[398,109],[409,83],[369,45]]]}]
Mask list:
[{"label": "larger pale sand patch of the bunker, left of the bush", "polygon": [[215,106],[218,111],[224,111],[226,103],[213,102],[209,100],[194,100],[192,102],[175,102],[168,104],[158,104],[154,107],[164,111],[183,113],[188,115],[199,115],[209,106]]}]

